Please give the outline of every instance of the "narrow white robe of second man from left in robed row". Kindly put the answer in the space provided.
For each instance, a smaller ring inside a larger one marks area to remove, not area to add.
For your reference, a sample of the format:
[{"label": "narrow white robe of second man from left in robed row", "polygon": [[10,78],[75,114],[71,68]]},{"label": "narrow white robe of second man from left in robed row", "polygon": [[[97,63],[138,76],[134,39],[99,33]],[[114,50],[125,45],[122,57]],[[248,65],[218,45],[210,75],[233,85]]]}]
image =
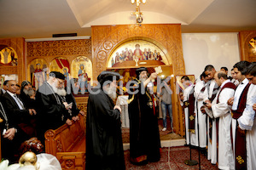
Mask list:
[{"label": "narrow white robe of second man from left in robed row", "polygon": [[[207,90],[205,90],[203,93],[201,93],[201,89],[204,88],[205,82],[199,81],[196,82],[195,84],[195,116],[196,116],[196,121],[197,121],[197,116],[198,116],[198,126],[199,126],[199,131],[197,130],[197,125],[195,128],[195,134],[196,134],[196,139],[197,133],[199,132],[199,144],[201,148],[207,147],[207,115],[201,113],[201,106],[203,105],[203,99],[207,96]],[[197,109],[196,109],[196,102],[197,102]],[[198,145],[196,143],[196,145]]]}]

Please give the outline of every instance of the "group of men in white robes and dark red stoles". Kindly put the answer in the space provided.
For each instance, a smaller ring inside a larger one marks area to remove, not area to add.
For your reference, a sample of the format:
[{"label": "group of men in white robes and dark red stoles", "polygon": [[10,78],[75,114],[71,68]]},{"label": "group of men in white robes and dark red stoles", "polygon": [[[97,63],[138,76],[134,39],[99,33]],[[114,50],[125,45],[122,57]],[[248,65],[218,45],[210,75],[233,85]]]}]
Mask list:
[{"label": "group of men in white robes and dark red stoles", "polygon": [[[180,92],[186,144],[200,147],[219,169],[256,169],[256,64],[240,61],[216,71],[207,65],[195,84],[183,76]],[[207,150],[207,152],[205,152]]]}]

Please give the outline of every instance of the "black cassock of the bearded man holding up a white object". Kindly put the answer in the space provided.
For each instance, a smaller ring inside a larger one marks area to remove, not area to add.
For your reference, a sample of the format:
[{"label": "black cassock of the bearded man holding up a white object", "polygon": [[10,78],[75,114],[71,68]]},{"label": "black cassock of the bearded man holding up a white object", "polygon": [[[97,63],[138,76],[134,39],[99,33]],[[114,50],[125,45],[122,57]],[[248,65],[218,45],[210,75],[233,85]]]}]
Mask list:
[{"label": "black cassock of the bearded man holding up a white object", "polygon": [[158,119],[154,115],[154,101],[148,89],[137,79],[136,81],[138,88],[135,90],[138,93],[130,94],[128,99],[131,162],[159,161],[160,133]]}]

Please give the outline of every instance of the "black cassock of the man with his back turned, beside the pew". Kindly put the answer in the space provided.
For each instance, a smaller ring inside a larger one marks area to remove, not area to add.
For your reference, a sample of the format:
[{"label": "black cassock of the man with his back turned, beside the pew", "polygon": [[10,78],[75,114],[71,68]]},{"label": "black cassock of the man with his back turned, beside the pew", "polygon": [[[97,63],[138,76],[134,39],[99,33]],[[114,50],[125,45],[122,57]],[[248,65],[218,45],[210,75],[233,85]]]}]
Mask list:
[{"label": "black cassock of the man with his back turned, beside the pew", "polygon": [[86,170],[125,169],[120,112],[101,88],[93,92],[87,105]]}]

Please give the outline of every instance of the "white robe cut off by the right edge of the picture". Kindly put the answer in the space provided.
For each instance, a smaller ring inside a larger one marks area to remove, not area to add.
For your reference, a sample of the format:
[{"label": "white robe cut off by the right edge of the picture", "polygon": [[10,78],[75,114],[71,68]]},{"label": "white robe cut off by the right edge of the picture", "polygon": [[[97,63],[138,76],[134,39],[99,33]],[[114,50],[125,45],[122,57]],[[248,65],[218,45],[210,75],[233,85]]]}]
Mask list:
[{"label": "white robe cut off by the right edge of the picture", "polygon": [[256,119],[253,104],[256,103],[256,86],[251,85],[247,93],[247,106],[237,119],[239,127],[246,131],[247,144],[247,170],[256,169]]}]

